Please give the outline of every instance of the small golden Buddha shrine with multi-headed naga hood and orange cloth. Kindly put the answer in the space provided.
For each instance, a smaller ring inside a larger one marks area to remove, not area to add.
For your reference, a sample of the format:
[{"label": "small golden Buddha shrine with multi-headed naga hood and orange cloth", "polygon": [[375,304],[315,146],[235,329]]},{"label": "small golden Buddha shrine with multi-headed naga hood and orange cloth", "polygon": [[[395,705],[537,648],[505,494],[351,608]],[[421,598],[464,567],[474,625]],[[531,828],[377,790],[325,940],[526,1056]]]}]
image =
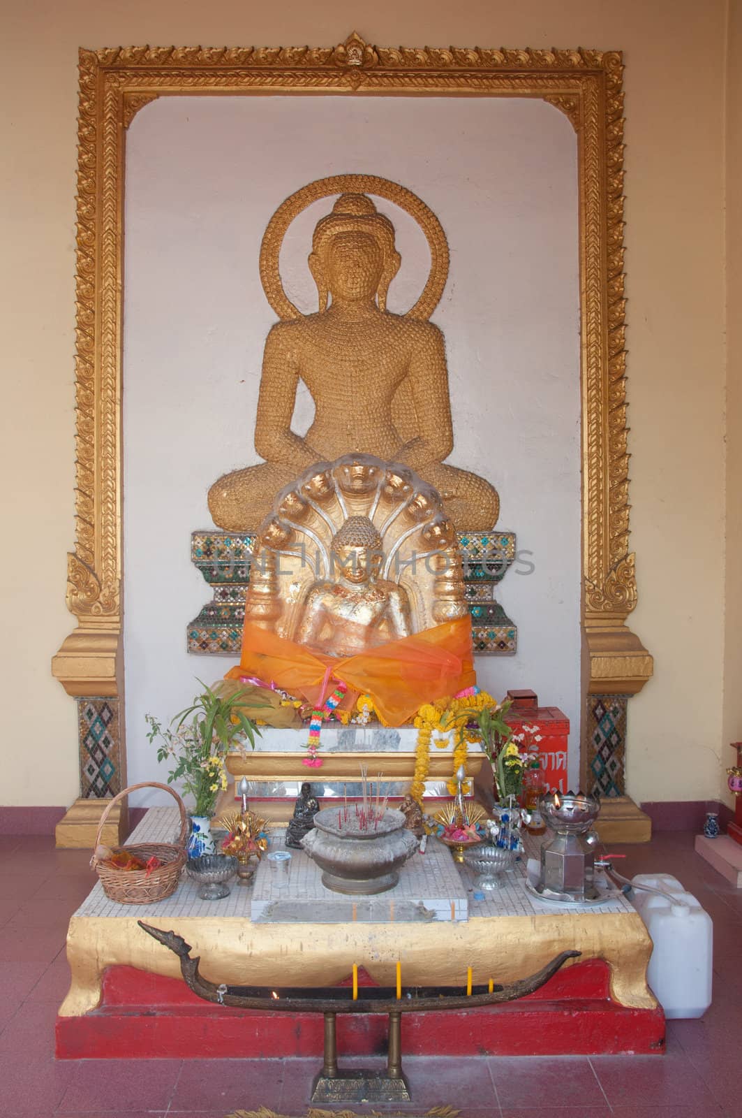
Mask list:
[{"label": "small golden Buddha shrine with multi-headed naga hood and orange cloth", "polygon": [[[369,694],[390,726],[472,686],[472,625],[456,533],[413,471],[372,455],[316,462],[276,494],[257,533],[238,683],[349,710]],[[314,762],[314,761],[313,761]]]}]

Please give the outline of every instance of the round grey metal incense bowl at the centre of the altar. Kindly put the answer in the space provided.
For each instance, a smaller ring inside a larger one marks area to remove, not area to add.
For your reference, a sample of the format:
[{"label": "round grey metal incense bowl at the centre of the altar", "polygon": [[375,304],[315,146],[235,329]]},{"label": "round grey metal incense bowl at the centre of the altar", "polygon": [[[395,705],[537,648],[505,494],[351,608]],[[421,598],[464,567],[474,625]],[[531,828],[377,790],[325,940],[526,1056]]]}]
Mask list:
[{"label": "round grey metal incense bowl at the centre of the altar", "polygon": [[418,849],[401,812],[389,808],[378,824],[362,830],[342,822],[341,809],[325,807],[314,816],[314,831],[302,846],[322,870],[322,883],[335,893],[369,896],[393,889],[399,868]]}]

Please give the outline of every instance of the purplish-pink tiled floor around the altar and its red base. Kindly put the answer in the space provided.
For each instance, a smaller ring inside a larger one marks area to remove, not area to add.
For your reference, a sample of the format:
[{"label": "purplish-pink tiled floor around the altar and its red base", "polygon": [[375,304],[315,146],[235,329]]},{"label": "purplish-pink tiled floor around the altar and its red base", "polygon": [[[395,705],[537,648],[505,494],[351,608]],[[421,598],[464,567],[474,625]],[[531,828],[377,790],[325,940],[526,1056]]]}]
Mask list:
[{"label": "purplish-pink tiled floor around the altar and its red base", "polygon": [[[674,873],[714,921],[714,1003],[703,1020],[669,1022],[665,1057],[408,1059],[412,1110],[448,1103],[462,1118],[742,1118],[742,891],[695,854],[691,834],[665,832],[622,852],[624,873]],[[225,1118],[259,1106],[304,1116],[317,1060],[55,1063],[65,934],[91,888],[88,858],[55,851],[47,837],[0,836],[0,1118]]]}]

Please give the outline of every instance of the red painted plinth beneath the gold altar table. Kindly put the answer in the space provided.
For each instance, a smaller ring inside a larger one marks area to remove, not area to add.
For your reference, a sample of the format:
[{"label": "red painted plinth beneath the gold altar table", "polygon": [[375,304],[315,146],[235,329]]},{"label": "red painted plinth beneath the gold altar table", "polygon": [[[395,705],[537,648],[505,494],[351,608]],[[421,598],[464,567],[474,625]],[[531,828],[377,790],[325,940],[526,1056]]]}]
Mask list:
[{"label": "red painted plinth beneath the gold altar table", "polygon": [[[343,984],[345,985],[345,984]],[[97,1010],[57,1017],[60,1060],[322,1055],[321,1013],[221,1008],[174,978],[111,967]],[[341,1057],[387,1051],[382,1014],[339,1014]],[[503,1006],[402,1014],[403,1055],[594,1055],[662,1053],[662,1010],[610,999],[600,959],[555,975],[535,994]]]}]

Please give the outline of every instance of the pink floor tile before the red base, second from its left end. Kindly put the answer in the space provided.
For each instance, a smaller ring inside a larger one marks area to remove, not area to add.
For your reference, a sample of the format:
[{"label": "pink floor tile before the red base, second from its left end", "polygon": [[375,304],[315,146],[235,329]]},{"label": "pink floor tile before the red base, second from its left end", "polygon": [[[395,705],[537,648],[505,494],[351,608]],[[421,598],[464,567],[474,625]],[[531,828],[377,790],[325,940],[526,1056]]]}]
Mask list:
[{"label": "pink floor tile before the red base, second from its left end", "polygon": [[280,1101],[283,1060],[185,1060],[172,1097],[173,1110],[209,1110],[223,1107],[275,1110]]}]

